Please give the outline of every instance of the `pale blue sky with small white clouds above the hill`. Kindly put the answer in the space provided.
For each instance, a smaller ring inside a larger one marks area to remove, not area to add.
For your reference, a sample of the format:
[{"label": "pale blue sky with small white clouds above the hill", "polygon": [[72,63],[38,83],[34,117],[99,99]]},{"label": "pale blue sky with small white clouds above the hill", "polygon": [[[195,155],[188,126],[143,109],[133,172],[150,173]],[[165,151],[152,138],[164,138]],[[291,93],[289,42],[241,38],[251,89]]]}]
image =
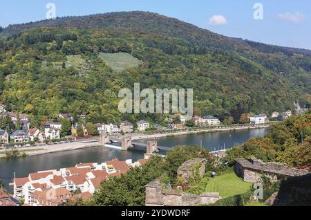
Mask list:
[{"label": "pale blue sky with small white clouds above the hill", "polygon": [[143,10],[229,37],[311,49],[310,0],[0,0],[0,26],[46,19],[48,3],[57,17]]}]

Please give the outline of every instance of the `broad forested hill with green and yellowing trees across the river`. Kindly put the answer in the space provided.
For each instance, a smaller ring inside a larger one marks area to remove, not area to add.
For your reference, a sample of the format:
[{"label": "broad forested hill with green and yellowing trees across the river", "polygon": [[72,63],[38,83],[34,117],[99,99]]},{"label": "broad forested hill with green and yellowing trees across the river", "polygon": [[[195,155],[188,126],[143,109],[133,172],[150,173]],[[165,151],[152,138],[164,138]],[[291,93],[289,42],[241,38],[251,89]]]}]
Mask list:
[{"label": "broad forested hill with green and yellowing trees across the river", "polygon": [[[118,113],[117,92],[135,82],[193,88],[195,113],[223,120],[311,103],[310,51],[224,37],[149,12],[38,21],[8,26],[3,36],[0,102],[33,116],[34,125],[59,112],[84,113],[91,122],[161,122],[156,114]],[[129,53],[140,65],[113,71],[103,53]]]}]

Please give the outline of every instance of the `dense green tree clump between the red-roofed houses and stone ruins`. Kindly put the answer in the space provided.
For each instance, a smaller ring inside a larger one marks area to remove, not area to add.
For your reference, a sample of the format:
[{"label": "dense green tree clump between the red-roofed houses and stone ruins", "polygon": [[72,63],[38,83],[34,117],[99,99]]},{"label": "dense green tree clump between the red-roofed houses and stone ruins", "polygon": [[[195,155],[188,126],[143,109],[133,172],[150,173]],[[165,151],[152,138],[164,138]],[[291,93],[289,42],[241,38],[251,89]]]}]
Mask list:
[{"label": "dense green tree clump between the red-roofed houses and stone ruins", "polygon": [[105,206],[144,205],[144,185],[156,178],[165,183],[176,183],[178,167],[196,157],[207,158],[208,163],[214,163],[214,158],[207,149],[198,147],[176,147],[165,159],[152,156],[147,164],[132,168],[120,177],[109,178],[102,182],[99,192],[94,194],[94,203]]}]

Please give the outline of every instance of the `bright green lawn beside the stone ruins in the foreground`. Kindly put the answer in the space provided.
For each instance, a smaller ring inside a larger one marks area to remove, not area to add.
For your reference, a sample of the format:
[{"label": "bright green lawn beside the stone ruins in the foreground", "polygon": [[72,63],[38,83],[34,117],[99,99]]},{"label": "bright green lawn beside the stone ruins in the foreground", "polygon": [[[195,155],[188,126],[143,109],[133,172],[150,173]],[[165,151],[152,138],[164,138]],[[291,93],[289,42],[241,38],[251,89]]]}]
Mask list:
[{"label": "bright green lawn beside the stone ruins in the foreground", "polygon": [[207,183],[206,192],[219,192],[220,196],[225,198],[238,194],[243,194],[249,190],[252,183],[242,181],[235,172],[229,172],[215,178],[210,178]]}]

